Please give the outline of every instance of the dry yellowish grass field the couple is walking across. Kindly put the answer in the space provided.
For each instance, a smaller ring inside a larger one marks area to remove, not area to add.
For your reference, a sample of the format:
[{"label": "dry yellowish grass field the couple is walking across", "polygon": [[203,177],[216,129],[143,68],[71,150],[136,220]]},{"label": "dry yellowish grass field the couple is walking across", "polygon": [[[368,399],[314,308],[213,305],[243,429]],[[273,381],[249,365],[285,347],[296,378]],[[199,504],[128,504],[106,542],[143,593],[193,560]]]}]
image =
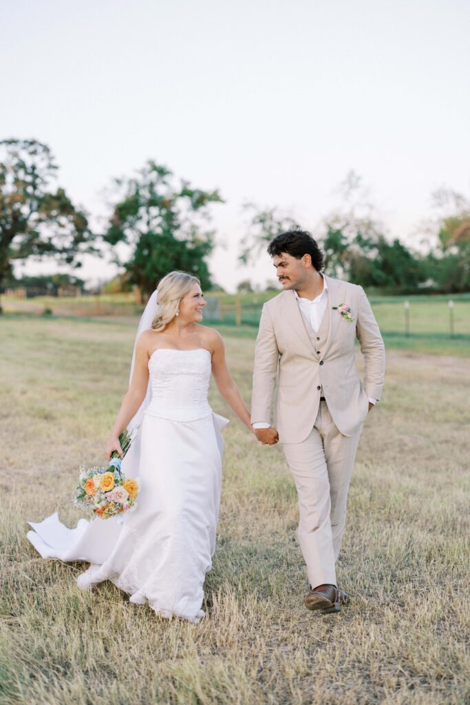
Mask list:
[{"label": "dry yellowish grass field the couple is walking across", "polygon": [[[230,329],[225,329],[229,333]],[[352,604],[307,612],[295,489],[211,389],[225,429],[208,615],[168,623],[86,565],[42,560],[26,520],[70,501],[100,462],[135,326],[0,319],[1,705],[462,705],[470,702],[470,361],[388,350],[364,426],[338,576]],[[254,341],[226,335],[248,401]]]}]

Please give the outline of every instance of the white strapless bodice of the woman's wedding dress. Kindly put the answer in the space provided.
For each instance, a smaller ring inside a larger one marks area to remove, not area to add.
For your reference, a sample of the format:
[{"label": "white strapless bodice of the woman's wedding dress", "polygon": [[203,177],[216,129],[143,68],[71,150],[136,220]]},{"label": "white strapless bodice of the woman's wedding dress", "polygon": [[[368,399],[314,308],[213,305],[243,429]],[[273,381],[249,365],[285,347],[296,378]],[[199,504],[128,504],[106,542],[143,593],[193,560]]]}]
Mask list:
[{"label": "white strapless bodice of the woman's wedding dress", "polygon": [[151,401],[146,413],[173,421],[208,416],[211,367],[211,353],[205,348],[155,350],[149,359]]}]

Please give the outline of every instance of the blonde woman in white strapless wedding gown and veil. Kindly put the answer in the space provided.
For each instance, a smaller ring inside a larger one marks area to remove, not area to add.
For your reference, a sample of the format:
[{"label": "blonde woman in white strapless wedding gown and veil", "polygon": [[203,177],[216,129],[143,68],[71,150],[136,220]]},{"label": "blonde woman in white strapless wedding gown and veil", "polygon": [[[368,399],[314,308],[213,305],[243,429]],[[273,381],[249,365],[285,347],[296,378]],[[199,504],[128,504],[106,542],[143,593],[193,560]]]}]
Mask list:
[{"label": "blonde woman in white strapless wedding gown and veil", "polygon": [[199,324],[206,302],[199,280],[167,274],[151,295],[137,331],[128,393],[118,412],[106,460],[122,455],[119,434],[134,441],[122,469],[137,477],[137,507],[119,519],[80,519],[68,529],[55,513],[28,539],[43,558],[85,560],[78,577],[89,588],[111,580],[159,615],[197,622],[204,615],[203,584],[211,568],[221,496],[221,429],[228,419],[207,401],[214,374],[218,391],[253,431],[249,412],[227,365],[221,336]]}]

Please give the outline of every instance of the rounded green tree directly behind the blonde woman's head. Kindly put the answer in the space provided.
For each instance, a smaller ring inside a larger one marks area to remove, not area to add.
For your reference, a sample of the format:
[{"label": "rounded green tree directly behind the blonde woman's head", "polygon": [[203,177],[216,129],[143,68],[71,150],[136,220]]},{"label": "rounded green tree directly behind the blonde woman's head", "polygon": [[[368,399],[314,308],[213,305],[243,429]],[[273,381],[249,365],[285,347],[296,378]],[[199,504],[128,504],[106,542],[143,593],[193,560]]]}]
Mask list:
[{"label": "rounded green tree directly behind the blonde woman's head", "polygon": [[206,257],[214,247],[214,231],[206,229],[209,205],[223,202],[217,190],[192,188],[165,166],[147,161],[137,176],[114,180],[118,201],[104,235],[111,245],[132,247],[125,266],[129,281],[150,294],[173,269],[199,276],[202,288],[211,286]]}]

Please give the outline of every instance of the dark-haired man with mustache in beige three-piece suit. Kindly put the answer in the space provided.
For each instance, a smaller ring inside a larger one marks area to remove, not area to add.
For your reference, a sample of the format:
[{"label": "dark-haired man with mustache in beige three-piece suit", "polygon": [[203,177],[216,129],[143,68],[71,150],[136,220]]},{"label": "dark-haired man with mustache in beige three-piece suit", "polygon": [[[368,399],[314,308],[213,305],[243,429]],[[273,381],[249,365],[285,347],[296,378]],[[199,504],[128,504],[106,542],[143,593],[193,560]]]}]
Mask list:
[{"label": "dark-haired man with mustache in beige three-piece suit", "polygon": [[[282,443],[297,486],[298,537],[311,585],[305,606],[339,612],[349,601],[335,572],[347,492],[362,424],[381,398],[385,348],[364,290],[321,274],[323,255],[310,233],[277,235],[268,253],[283,292],[261,314],[252,424],[261,443]],[[275,386],[276,428],[270,424]]]}]

